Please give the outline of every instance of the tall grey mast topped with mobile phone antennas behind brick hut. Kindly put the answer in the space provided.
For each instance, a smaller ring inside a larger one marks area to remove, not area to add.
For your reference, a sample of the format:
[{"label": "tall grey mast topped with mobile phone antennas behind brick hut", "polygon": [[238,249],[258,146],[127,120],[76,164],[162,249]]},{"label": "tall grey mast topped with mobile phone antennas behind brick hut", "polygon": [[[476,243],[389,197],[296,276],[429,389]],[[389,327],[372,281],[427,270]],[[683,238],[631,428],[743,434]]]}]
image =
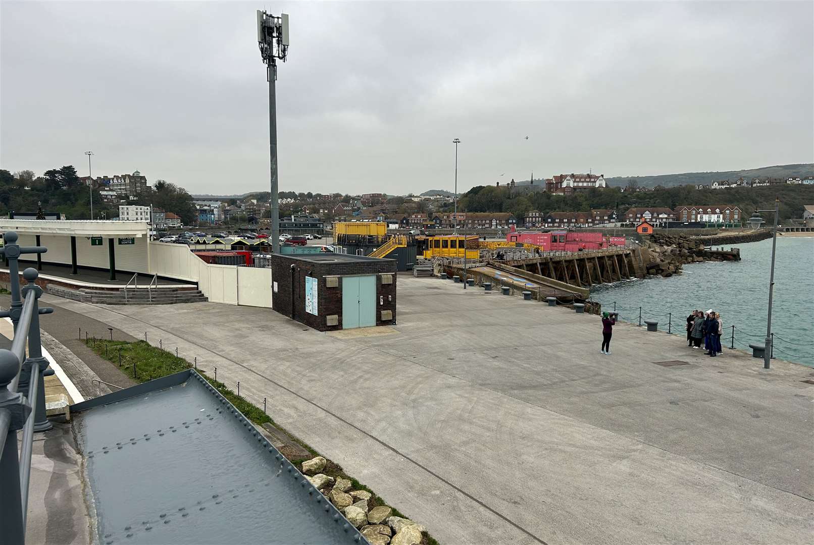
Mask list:
[{"label": "tall grey mast topped with mobile phone antennas behind brick hut", "polygon": [[280,201],[277,180],[277,59],[286,62],[288,54],[288,15],[275,17],[257,10],[257,43],[260,56],[266,65],[269,81],[269,155],[271,155],[271,251],[280,252]]}]

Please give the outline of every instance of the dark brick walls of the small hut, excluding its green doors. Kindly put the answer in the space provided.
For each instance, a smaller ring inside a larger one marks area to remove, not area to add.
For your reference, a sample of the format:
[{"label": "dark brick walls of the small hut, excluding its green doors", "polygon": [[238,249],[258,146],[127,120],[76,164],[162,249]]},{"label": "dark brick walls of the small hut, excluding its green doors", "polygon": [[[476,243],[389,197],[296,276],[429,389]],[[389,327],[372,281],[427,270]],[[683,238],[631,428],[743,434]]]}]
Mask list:
[{"label": "dark brick walls of the small hut, excluding its green doors", "polygon": [[[293,269],[291,266],[293,265]],[[396,261],[364,259],[358,261],[313,262],[289,255],[273,255],[271,277],[277,285],[272,308],[284,316],[320,331],[342,329],[342,278],[376,276],[376,325],[396,323]],[[382,274],[392,275],[392,284],[382,283]],[[317,278],[317,315],[305,312],[305,277]],[[326,277],[339,277],[336,287],[326,286]],[[392,320],[382,320],[382,311],[392,311]],[[339,316],[337,325],[326,325],[326,316]]]}]

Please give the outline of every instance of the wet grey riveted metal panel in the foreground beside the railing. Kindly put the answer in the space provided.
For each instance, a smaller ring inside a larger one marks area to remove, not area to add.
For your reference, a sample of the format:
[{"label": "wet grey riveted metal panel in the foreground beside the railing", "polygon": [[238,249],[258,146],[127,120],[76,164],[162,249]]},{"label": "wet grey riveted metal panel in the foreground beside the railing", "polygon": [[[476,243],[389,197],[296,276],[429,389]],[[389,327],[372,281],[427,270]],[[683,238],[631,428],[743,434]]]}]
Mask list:
[{"label": "wet grey riveted metal panel in the foreground beside the railing", "polygon": [[99,543],[366,543],[194,371],[72,412]]}]

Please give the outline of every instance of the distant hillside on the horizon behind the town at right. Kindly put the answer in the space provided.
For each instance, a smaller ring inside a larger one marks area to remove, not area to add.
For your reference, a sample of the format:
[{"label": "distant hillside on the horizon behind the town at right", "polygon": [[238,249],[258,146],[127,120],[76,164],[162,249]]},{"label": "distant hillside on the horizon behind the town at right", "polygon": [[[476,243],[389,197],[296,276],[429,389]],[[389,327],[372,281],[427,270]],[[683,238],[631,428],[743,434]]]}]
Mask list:
[{"label": "distant hillside on the horizon behind the town at right", "polygon": [[752,178],[789,178],[814,176],[814,164],[781,164],[774,167],[751,168],[748,170],[729,170],[723,172],[685,172],[683,174],[662,174],[660,176],[618,176],[605,178],[608,185],[624,186],[635,180],[640,187],[674,187],[686,184],[711,184],[715,180],[735,181],[740,177]]}]

